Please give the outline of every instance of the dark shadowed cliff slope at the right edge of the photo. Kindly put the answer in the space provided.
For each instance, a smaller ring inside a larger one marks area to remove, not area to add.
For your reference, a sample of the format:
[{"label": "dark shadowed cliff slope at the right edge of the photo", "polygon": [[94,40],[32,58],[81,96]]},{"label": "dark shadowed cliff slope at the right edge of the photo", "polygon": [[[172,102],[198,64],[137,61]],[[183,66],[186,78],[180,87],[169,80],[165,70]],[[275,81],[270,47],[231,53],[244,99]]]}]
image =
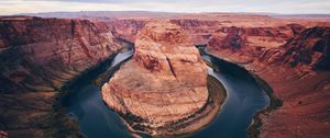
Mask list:
[{"label": "dark shadowed cliff slope at the right edge of the photo", "polygon": [[316,70],[329,70],[330,27],[311,27],[288,41],[274,54],[264,54],[273,61],[288,64],[292,67],[308,66]]}]

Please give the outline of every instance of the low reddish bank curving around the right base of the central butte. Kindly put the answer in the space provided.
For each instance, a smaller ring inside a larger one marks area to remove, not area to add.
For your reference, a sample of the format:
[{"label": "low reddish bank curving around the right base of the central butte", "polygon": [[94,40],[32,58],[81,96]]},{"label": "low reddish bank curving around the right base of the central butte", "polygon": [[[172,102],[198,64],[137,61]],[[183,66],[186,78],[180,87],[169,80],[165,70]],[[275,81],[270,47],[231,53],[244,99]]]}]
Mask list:
[{"label": "low reddish bank curving around the right base of the central butte", "polygon": [[144,131],[134,129],[125,119],[125,117],[128,116],[121,115],[119,113],[118,114],[122,118],[124,125],[133,135],[143,134],[152,137],[187,137],[209,126],[221,112],[221,107],[227,100],[228,93],[224,89],[224,85],[215,77],[209,74],[208,92],[209,99],[202,108],[200,108],[189,117],[183,118],[183,120],[175,120],[174,124],[170,124],[168,127],[161,128],[160,131],[156,130],[158,134],[155,135],[150,134],[154,129],[143,128],[145,129]]}]

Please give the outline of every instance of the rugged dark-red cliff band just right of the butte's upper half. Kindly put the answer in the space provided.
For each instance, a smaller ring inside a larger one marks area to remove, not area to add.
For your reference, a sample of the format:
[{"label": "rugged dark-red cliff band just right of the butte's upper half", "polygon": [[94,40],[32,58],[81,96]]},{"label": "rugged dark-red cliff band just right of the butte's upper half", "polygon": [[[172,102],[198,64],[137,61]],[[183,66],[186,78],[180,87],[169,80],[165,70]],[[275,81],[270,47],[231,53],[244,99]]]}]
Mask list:
[{"label": "rugged dark-red cliff band just right of the butte's upper half", "polygon": [[300,32],[301,28],[293,28],[293,26],[297,25],[289,24],[276,27],[222,26],[212,34],[209,41],[209,47],[216,50],[238,50],[246,47],[279,47],[289,38],[294,37],[297,32]]}]

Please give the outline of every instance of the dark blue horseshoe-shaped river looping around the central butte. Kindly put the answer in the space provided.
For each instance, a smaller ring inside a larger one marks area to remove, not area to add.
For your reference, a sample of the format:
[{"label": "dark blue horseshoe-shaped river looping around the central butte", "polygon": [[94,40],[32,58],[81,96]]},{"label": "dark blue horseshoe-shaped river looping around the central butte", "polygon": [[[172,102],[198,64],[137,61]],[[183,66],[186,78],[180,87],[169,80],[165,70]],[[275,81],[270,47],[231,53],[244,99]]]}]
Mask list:
[{"label": "dark blue horseshoe-shaped river looping around the central butte", "polygon": [[[129,46],[130,44],[127,44]],[[130,47],[130,46],[129,46]],[[268,96],[258,87],[254,78],[243,68],[212,57],[201,50],[205,60],[220,70],[209,68],[209,74],[216,77],[226,88],[228,96],[216,119],[206,128],[191,135],[193,138],[246,138],[248,128],[254,114],[268,105]],[[89,138],[130,138],[131,133],[120,116],[111,111],[101,99],[100,87],[94,80],[107,69],[116,68],[131,58],[133,48],[120,51],[111,61],[96,71],[78,79],[64,100],[68,116],[79,122],[80,130]],[[110,71],[107,80],[116,69]],[[147,136],[143,136],[147,137]]]}]

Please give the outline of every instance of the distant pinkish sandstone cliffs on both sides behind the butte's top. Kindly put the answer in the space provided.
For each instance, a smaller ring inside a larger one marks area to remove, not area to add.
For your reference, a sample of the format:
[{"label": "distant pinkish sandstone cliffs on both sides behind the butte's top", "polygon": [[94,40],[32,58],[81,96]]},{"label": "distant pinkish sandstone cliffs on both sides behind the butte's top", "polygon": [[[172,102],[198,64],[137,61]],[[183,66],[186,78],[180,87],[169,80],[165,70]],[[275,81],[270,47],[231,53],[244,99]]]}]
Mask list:
[{"label": "distant pinkish sandstone cliffs on both sides behind the butte's top", "polygon": [[[255,35],[254,33],[258,33],[263,30],[263,32],[266,33],[262,34],[264,36],[279,34],[279,36],[283,37],[283,35],[298,33],[302,27],[301,25],[311,26],[327,24],[311,21],[284,21],[266,15],[252,14],[195,14],[168,19],[160,18],[160,20],[169,20],[170,23],[180,26],[183,30],[188,32],[194,44],[207,44],[212,33],[221,28],[246,28],[250,30],[249,33],[252,35]],[[152,21],[150,18],[131,18],[109,21],[108,24],[113,27],[113,33],[117,36],[134,42],[139,31],[141,31],[150,21]]]}]

